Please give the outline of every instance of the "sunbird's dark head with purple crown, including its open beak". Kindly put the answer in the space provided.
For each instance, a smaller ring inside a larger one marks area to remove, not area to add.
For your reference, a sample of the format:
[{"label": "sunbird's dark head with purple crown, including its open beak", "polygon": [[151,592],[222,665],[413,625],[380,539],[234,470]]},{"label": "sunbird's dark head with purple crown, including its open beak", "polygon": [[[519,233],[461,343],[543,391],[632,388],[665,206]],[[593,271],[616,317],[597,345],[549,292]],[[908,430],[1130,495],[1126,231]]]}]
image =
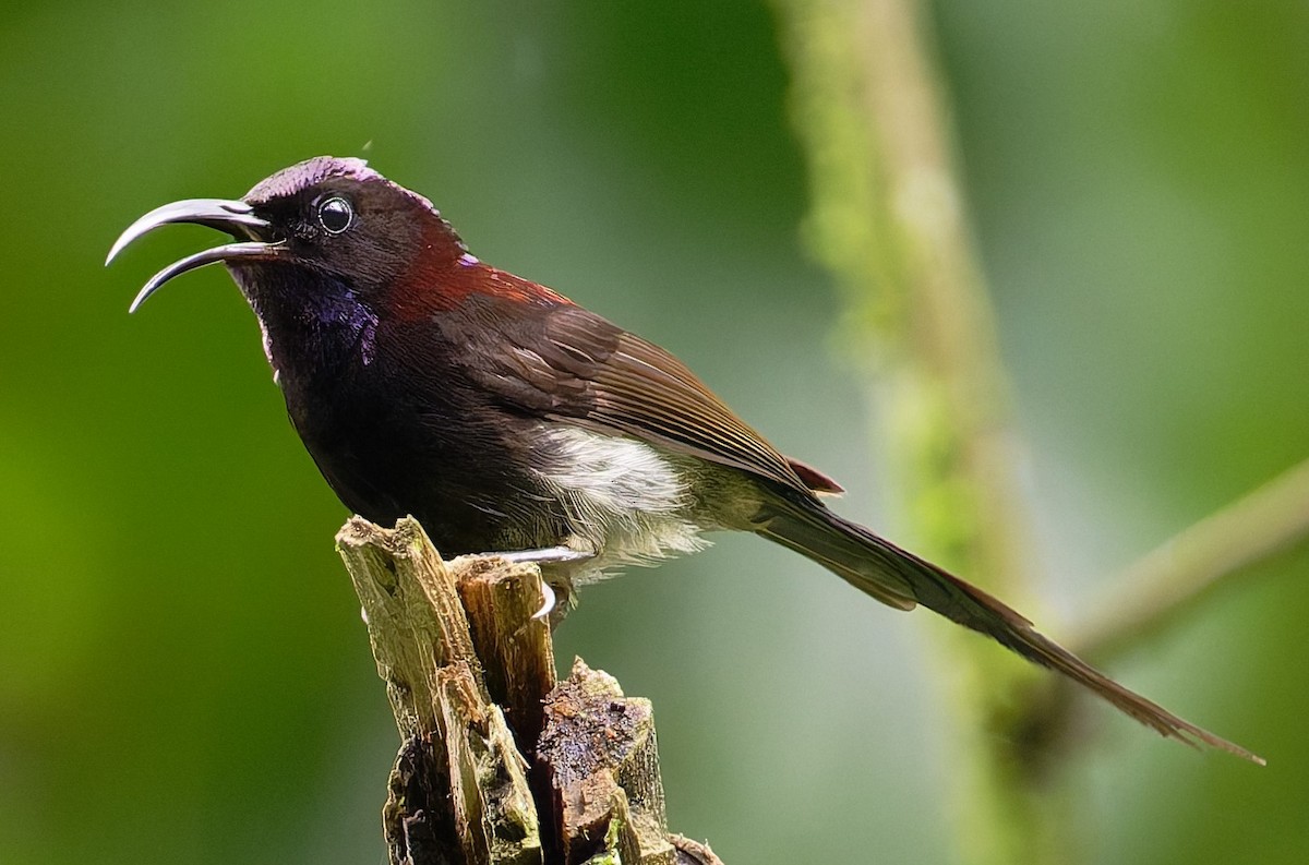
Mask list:
[{"label": "sunbird's dark head with purple crown, including its open beak", "polygon": [[411,281],[415,268],[433,274],[466,251],[425,198],[363,160],[327,156],[278,171],[240,200],[188,199],[156,208],[123,232],[106,264],[136,238],[175,222],[226,232],[233,242],[161,270],[136,294],[134,311],[174,276],[215,262],[228,267],[258,310],[288,293],[376,301]]}]

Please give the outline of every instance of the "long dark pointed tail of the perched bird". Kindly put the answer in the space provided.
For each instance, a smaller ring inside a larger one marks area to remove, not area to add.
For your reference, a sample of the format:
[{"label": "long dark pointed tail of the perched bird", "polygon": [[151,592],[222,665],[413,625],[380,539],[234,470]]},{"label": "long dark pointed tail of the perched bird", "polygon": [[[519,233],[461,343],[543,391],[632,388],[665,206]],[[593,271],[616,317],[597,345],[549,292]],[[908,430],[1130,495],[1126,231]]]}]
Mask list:
[{"label": "long dark pointed tail of the perched bird", "polygon": [[1192,747],[1203,742],[1264,764],[1263,758],[1118,684],[1038,633],[1031,622],[982,589],[843,520],[821,503],[788,501],[770,514],[757,531],[813,559],[884,603],[901,610],[912,610],[922,603],[952,622],[987,635],[1029,661],[1063,673],[1164,737]]}]

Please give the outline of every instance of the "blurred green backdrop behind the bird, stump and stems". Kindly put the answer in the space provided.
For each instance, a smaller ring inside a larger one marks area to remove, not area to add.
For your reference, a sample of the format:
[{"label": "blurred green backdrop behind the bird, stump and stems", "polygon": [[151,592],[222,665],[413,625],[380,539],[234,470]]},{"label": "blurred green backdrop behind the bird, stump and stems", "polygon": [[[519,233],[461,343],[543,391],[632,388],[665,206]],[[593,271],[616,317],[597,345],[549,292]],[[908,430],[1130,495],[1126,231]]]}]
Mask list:
[{"label": "blurred green backdrop behind the bird, stump and stems", "polygon": [[[1309,454],[1309,5],[927,13],[1058,636]],[[787,88],[755,3],[5,5],[0,862],[384,861],[395,733],[332,551],[347,514],[220,270],[127,317],[213,241],[161,232],[103,270],[157,204],[364,154],[903,533],[800,242]],[[1301,546],[1111,670],[1268,768],[1096,707],[1071,858],[1305,861],[1306,572]],[[950,862],[944,627],[721,538],[585,590],[558,650],[654,700],[672,826],[728,862]]]}]

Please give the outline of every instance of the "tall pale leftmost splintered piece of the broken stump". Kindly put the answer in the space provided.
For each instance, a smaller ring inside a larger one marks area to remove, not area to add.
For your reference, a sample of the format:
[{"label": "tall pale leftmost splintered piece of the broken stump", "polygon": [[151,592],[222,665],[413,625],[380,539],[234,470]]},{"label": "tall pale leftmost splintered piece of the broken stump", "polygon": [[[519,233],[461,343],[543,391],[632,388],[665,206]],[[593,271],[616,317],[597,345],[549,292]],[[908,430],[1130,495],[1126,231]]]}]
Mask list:
[{"label": "tall pale leftmost splintered piece of the broken stump", "polygon": [[403,742],[382,810],[394,865],[543,862],[526,762],[492,704],[456,573],[421,526],[336,535]]}]

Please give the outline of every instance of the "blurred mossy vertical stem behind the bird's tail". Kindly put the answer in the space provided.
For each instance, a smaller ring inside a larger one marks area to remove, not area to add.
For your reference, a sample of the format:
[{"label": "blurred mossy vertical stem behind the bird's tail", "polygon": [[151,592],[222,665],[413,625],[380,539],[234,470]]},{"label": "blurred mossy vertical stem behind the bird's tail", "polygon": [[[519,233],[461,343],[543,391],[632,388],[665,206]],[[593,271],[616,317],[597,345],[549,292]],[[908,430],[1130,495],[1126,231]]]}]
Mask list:
[{"label": "blurred mossy vertical stem behind the bird's tail", "polygon": [[[965,224],[948,111],[915,0],[778,0],[810,166],[808,239],[876,370],[916,546],[1030,612],[1025,517],[994,313]],[[971,862],[1063,861],[1046,790],[1005,729],[1030,669],[958,633],[950,771]],[[944,677],[942,677],[944,678]]]}]

